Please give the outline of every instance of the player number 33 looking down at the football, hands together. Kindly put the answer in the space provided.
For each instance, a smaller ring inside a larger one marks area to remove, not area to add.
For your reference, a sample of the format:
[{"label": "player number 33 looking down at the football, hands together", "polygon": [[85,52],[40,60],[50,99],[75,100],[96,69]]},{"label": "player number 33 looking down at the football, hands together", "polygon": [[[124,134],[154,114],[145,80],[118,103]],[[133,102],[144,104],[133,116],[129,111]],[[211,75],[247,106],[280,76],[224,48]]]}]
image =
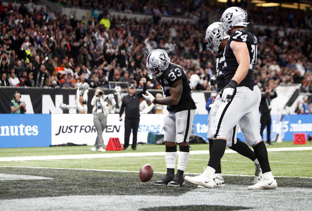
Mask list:
[{"label": "player number 33 looking down at the football, hands together", "polygon": [[[196,105],[191,97],[191,84],[184,70],[170,62],[166,51],[156,49],[149,53],[146,67],[163,90],[163,98],[154,98],[146,91],[143,97],[154,104],[167,105],[163,121],[166,145],[165,161],[167,174],[155,185],[182,186],[185,184],[183,173],[189,158],[188,139],[192,130]],[[174,174],[179,145],[178,170]]]}]

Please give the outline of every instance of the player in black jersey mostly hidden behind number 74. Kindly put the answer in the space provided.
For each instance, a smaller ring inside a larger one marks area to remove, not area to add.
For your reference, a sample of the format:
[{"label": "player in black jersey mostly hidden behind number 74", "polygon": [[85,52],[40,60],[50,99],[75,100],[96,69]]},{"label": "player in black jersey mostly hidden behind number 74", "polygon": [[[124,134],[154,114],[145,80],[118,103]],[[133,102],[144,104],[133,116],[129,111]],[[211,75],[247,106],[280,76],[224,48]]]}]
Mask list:
[{"label": "player in black jersey mostly hidden behind number 74", "polygon": [[[223,64],[224,64],[224,58],[223,58],[223,50],[227,44],[227,40],[230,36],[226,35],[224,36],[220,30],[221,22],[214,22],[210,26],[208,26],[206,30],[206,37],[205,40],[208,41],[207,49],[209,49],[211,52],[216,53],[216,69],[217,69],[217,75],[212,77],[209,80],[209,86],[210,88],[213,88],[214,84],[217,84],[217,91],[220,91],[225,87],[225,80],[224,80],[224,74],[223,71]],[[213,136],[212,133],[212,127],[214,123],[214,119],[216,117],[217,111],[219,107],[221,106],[222,102],[220,100],[220,95],[217,95],[216,100],[212,103],[212,108],[209,112],[208,116],[208,132],[207,132],[207,139],[209,140],[209,150],[211,150],[212,144],[213,144]],[[227,136],[227,147],[230,149],[237,151],[242,156],[248,157],[251,159],[255,165],[255,178],[254,178],[254,184],[256,184],[262,175],[261,167],[259,164],[259,161],[255,155],[255,153],[248,147],[248,145],[242,141],[236,140],[237,131],[239,130],[239,125],[236,124],[234,128],[232,128]],[[214,187],[223,187],[224,180],[222,178],[221,173],[221,164],[219,162],[216,172],[213,175],[214,178]],[[198,186],[203,187],[203,186]]]}]

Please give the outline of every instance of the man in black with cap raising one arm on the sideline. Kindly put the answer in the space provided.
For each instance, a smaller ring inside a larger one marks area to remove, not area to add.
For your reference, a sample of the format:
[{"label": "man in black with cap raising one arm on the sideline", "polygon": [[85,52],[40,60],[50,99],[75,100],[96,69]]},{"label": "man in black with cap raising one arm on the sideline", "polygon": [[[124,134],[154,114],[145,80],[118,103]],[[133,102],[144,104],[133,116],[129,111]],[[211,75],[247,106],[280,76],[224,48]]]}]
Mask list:
[{"label": "man in black with cap raising one arm on the sideline", "polygon": [[125,117],[124,117],[124,150],[129,146],[129,139],[132,128],[132,145],[131,148],[136,150],[136,142],[137,142],[137,134],[139,129],[140,122],[140,99],[142,98],[142,94],[145,94],[146,91],[146,79],[144,78],[144,88],[140,93],[135,93],[135,87],[129,87],[129,94],[124,96],[124,99],[121,103],[121,108],[119,112],[119,121],[122,121],[122,113],[124,113],[125,109]]}]

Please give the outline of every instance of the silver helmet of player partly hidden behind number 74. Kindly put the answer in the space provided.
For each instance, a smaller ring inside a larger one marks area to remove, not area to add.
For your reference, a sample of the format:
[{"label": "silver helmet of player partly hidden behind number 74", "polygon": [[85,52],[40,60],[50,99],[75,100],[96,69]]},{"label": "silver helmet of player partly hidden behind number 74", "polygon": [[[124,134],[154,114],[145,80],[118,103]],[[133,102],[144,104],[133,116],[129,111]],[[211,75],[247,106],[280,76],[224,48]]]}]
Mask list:
[{"label": "silver helmet of player partly hidden behind number 74", "polygon": [[221,22],[214,22],[208,26],[206,30],[206,37],[205,40],[208,41],[207,49],[209,49],[211,52],[218,52],[220,43],[224,40],[229,38],[228,35],[224,36],[221,32]]}]

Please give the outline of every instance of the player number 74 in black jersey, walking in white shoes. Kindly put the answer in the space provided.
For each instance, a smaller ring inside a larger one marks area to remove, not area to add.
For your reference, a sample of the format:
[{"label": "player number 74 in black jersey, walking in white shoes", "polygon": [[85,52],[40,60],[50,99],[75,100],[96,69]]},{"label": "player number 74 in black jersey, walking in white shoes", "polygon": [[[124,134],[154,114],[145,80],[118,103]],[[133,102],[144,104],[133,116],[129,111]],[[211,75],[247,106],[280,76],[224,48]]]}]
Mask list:
[{"label": "player number 74 in black jersey, walking in white shoes", "polygon": [[223,53],[223,72],[227,84],[221,90],[223,103],[218,109],[213,125],[214,143],[207,169],[202,175],[186,179],[194,184],[213,188],[213,175],[224,154],[228,133],[238,122],[246,143],[254,149],[263,173],[259,182],[248,186],[248,189],[275,189],[277,183],[272,175],[266,146],[259,131],[261,92],[254,79],[257,39],[244,30],[248,24],[247,13],[240,7],[226,9],[221,22],[223,34],[230,35]]}]

